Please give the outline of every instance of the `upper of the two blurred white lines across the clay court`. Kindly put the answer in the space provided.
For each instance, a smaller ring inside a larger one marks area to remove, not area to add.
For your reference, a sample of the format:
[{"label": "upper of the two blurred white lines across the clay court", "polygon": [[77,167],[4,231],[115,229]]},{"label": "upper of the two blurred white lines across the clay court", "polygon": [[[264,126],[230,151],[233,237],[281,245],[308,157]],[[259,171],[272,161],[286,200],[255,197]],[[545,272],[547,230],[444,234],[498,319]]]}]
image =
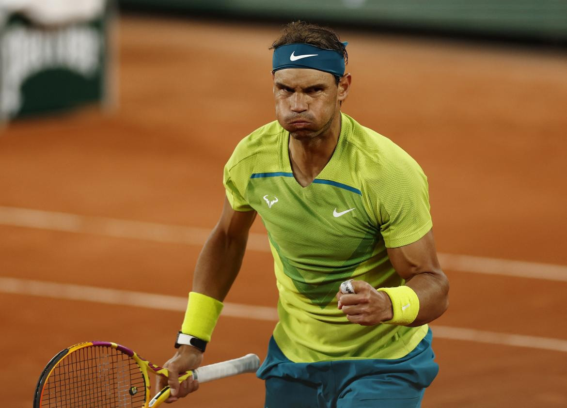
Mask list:
[{"label": "upper of the two blurred white lines across the clay court", "polygon": [[[210,233],[210,230],[206,228],[172,226],[3,206],[0,206],[0,225],[188,245],[202,245]],[[268,236],[263,233],[251,232],[248,237],[247,249],[270,252]],[[448,271],[567,282],[567,266],[564,265],[446,253],[439,253],[438,255],[441,266]]]}]

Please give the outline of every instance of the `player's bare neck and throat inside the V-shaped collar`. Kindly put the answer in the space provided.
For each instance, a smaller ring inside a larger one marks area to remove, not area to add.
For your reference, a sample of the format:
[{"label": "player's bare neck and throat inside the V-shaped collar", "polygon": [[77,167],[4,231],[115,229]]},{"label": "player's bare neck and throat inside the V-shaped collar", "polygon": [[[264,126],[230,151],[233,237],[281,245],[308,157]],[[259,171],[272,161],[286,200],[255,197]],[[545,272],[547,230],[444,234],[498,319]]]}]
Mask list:
[{"label": "player's bare neck and throat inside the V-shaped collar", "polygon": [[331,126],[312,139],[289,138],[289,159],[295,180],[303,187],[311,184],[315,177],[331,160],[341,133],[341,112],[337,112]]}]

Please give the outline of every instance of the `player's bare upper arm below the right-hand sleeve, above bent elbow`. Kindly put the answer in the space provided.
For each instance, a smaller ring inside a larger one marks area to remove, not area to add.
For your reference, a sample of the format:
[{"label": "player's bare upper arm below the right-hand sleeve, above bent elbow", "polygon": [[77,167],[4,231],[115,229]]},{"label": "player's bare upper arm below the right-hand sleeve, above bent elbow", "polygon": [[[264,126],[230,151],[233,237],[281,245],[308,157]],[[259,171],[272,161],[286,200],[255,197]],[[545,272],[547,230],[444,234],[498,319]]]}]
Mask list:
[{"label": "player's bare upper arm below the right-hand sleeve, above bent elbow", "polygon": [[433,230],[429,230],[421,239],[403,247],[387,248],[392,266],[406,281],[419,273],[442,274],[437,259]]}]

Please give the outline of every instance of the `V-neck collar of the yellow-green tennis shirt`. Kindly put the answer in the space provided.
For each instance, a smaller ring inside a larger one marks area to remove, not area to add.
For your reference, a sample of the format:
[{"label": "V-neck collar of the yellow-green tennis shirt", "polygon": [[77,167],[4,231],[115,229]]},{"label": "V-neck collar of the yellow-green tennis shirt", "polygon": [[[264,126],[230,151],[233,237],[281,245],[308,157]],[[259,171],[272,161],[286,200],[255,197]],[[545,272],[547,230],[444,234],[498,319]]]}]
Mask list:
[{"label": "V-neck collar of the yellow-green tennis shirt", "polygon": [[[335,150],[331,155],[331,159],[325,164],[325,167],[319,172],[317,176],[315,176],[315,180],[333,180],[336,170],[337,170],[337,163],[340,162],[340,158],[342,152],[344,151],[344,147],[346,146],[346,139],[347,135],[349,134],[350,129],[350,122],[348,118],[341,112],[341,131],[338,135],[337,146],[335,146]],[[293,170],[291,169],[291,160],[289,157],[289,138],[290,134],[289,131],[283,129],[282,136],[280,137],[280,167],[282,171],[286,173],[291,173],[293,175]],[[295,176],[293,176],[295,183],[299,188],[306,189],[314,184],[314,182],[310,182],[310,184],[306,186],[302,186],[299,184]]]}]

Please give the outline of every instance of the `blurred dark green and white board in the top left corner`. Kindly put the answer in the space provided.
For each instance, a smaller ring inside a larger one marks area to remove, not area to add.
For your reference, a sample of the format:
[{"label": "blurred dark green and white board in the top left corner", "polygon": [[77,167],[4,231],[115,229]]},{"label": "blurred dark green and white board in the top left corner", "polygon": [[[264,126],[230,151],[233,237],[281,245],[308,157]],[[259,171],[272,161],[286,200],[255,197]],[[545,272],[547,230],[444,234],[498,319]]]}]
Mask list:
[{"label": "blurred dark green and white board in the top left corner", "polygon": [[110,99],[107,0],[0,0],[0,118]]}]

